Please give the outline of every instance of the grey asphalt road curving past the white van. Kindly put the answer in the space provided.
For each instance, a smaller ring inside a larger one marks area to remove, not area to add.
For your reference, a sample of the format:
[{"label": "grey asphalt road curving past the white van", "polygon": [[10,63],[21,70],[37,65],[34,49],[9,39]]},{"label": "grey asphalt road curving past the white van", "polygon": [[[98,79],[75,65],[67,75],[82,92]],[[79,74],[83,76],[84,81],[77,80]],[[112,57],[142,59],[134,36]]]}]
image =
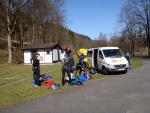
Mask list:
[{"label": "grey asphalt road curving past the white van", "polygon": [[0,109],[0,113],[150,113],[150,60],[127,74]]}]

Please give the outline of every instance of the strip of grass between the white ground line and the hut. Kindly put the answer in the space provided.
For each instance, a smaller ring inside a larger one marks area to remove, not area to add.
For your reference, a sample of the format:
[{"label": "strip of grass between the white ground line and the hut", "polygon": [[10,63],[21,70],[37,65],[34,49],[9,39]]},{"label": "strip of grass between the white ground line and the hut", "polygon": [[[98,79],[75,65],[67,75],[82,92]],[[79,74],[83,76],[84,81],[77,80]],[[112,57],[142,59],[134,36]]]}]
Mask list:
[{"label": "strip of grass between the white ground line and the hut", "polygon": [[[41,73],[50,73],[52,70],[61,68],[62,64],[41,66]],[[0,86],[11,82],[32,77],[32,67],[23,64],[0,64]]]}]

